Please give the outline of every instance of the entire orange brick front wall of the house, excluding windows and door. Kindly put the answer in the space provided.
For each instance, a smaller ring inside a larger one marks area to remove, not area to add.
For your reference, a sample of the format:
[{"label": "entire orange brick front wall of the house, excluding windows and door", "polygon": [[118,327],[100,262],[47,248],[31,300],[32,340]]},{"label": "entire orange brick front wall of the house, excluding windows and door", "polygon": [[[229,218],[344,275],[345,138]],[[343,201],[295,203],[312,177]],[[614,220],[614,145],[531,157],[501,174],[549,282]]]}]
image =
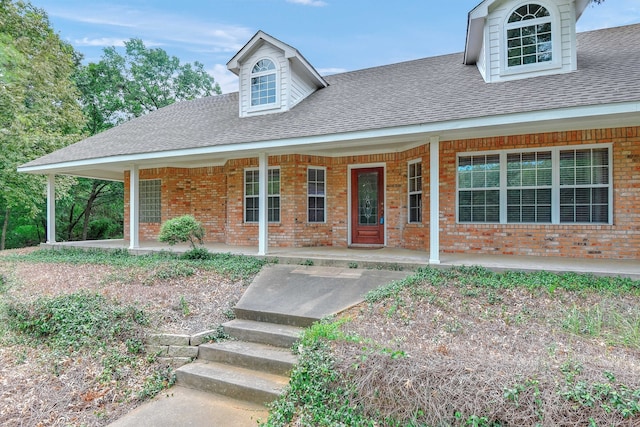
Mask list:
[{"label": "entire orange brick front wall of the house, excluding windows and door", "polygon": [[[613,144],[614,225],[457,224],[456,154],[496,149]],[[422,160],[422,223],[407,221],[407,162]],[[429,146],[401,153],[346,157],[269,157],[280,168],[281,221],[269,224],[269,245],[337,246],[348,241],[349,167],[384,165],[387,246],[429,250]],[[327,176],[327,221],[307,222],[307,168]],[[162,221],[190,213],[202,221],[206,240],[257,246],[258,225],[244,223],[244,170],[257,158],[224,166],[140,171],[141,179],[162,179]],[[125,236],[128,237],[128,174],[125,175]],[[553,132],[440,142],[440,244],[442,252],[638,258],[640,251],[640,127]],[[141,224],[140,239],[157,238],[160,224]]]}]

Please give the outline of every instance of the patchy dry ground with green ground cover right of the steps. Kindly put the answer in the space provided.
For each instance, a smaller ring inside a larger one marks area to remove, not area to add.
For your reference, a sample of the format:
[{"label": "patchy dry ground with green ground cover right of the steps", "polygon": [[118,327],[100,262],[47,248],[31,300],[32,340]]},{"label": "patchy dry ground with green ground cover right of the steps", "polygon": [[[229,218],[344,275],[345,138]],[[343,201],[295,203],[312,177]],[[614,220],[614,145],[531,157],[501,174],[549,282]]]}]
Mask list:
[{"label": "patchy dry ground with green ground cover right of the steps", "polygon": [[635,426],[640,282],[425,268],[307,330],[267,426]]}]

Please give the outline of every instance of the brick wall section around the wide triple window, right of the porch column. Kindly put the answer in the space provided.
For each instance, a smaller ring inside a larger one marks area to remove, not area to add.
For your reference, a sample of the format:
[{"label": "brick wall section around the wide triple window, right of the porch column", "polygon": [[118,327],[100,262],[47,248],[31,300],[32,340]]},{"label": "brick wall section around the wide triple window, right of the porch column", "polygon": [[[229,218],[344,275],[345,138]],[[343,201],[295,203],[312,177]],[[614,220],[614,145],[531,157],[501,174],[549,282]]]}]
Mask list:
[{"label": "brick wall section around the wide triple window, right of the porch column", "polygon": [[[613,144],[613,225],[456,224],[456,153]],[[553,132],[440,144],[441,252],[640,257],[640,128]]]}]

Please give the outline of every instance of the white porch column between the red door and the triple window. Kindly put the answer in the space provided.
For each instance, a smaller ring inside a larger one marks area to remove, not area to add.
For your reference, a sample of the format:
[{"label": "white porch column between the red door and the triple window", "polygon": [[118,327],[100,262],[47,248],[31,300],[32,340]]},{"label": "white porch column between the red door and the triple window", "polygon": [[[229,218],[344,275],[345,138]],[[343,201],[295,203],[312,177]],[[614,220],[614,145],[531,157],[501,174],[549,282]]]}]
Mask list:
[{"label": "white porch column between the red door and the triple window", "polygon": [[429,140],[429,264],[440,264],[440,138]]}]

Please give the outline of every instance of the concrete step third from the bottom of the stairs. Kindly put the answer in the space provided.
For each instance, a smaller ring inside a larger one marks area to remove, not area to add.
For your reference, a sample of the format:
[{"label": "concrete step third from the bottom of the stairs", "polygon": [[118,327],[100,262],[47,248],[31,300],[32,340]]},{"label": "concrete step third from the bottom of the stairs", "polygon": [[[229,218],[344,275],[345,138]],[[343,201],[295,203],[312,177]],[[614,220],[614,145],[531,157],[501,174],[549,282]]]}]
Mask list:
[{"label": "concrete step third from the bottom of the stairs", "polygon": [[291,348],[300,338],[302,328],[254,320],[233,319],[222,325],[224,331],[241,341]]}]

